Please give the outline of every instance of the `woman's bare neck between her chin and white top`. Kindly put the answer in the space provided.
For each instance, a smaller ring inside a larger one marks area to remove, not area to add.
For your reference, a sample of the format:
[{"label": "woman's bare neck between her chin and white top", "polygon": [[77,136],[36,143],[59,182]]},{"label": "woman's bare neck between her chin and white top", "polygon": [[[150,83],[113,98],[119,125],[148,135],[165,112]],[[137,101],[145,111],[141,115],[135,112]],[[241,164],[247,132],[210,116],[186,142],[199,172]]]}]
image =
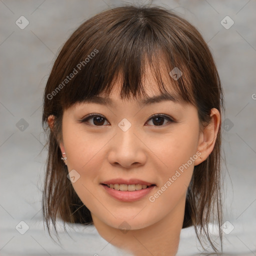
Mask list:
[{"label": "woman's bare neck between her chin and white top", "polygon": [[183,200],[179,204],[160,221],[144,228],[125,231],[107,225],[93,213],[91,215],[101,237],[134,256],[174,256],[184,216]]}]

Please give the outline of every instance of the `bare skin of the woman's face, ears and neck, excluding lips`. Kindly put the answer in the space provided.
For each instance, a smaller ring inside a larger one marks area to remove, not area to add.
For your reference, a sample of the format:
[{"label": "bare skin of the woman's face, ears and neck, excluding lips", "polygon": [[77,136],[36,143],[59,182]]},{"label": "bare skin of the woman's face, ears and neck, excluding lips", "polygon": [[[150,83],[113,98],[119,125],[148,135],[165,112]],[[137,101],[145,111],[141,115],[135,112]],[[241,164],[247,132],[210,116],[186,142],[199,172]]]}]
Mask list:
[{"label": "bare skin of the woman's face, ears and neck, excluding lips", "polygon": [[[147,95],[160,94],[151,73],[145,77]],[[163,78],[170,84],[166,71]],[[220,114],[212,108],[210,123],[201,129],[195,106],[182,100],[141,106],[140,98],[120,99],[119,85],[116,82],[109,96],[113,106],[77,103],[64,110],[59,146],[66,153],[68,170],[75,169],[80,175],[72,185],[105,240],[133,255],[175,255],[193,167],[212,151]],[[169,91],[175,94],[171,86]],[[93,117],[87,123],[80,123],[89,113],[104,116],[104,124],[93,124]],[[150,118],[159,113],[176,122],[164,119],[162,125],[155,125],[155,119]],[[125,132],[117,125],[123,118],[131,123]],[[48,123],[53,129],[53,116],[49,116]],[[196,152],[201,153],[202,159],[198,156],[158,198],[149,201],[149,196]],[[156,186],[138,201],[121,202],[100,185],[104,180],[117,177],[138,178]],[[127,232],[120,229],[123,221],[129,226]]]}]

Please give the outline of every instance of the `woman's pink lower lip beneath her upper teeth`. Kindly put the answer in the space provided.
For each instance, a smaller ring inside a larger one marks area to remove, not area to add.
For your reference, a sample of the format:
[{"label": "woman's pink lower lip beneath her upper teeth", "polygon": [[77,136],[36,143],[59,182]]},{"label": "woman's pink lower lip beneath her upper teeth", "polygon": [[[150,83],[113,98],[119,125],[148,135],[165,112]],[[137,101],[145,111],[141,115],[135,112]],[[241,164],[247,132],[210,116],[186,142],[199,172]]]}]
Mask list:
[{"label": "woman's pink lower lip beneath her upper teeth", "polygon": [[147,195],[155,186],[149,186],[144,189],[135,190],[135,191],[121,191],[121,190],[115,190],[111,187],[108,187],[106,185],[102,185],[106,190],[106,192],[114,197],[115,199],[118,199],[123,202],[132,202],[141,199],[145,195]]}]

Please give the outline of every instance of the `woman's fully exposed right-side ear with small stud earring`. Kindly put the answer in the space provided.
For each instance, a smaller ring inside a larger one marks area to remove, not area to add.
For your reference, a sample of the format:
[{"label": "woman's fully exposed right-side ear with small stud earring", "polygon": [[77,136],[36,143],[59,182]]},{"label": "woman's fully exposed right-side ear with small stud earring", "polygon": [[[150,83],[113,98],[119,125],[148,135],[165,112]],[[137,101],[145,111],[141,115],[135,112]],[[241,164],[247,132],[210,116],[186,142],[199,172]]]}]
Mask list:
[{"label": "woman's fully exposed right-side ear with small stud earring", "polygon": [[[211,108],[210,122],[206,127],[203,128],[202,131],[200,131],[199,134],[197,150],[201,152],[201,154],[198,154],[199,157],[194,161],[194,165],[203,162],[212,152],[215,145],[219,125],[220,113],[216,108]],[[200,157],[202,157],[202,159]]]}]

